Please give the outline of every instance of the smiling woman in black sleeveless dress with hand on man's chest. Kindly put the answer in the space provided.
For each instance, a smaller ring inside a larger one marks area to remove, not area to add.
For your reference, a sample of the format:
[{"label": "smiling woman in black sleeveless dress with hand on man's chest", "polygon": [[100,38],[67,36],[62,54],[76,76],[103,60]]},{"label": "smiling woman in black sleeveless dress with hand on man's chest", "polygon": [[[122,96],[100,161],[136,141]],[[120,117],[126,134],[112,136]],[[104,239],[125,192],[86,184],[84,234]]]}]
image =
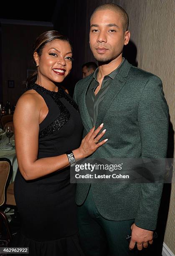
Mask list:
[{"label": "smiling woman in black sleeveless dress with hand on man's chest", "polygon": [[36,40],[33,58],[37,73],[28,80],[13,120],[19,166],[14,191],[22,225],[9,246],[29,247],[30,256],[84,255],[70,164],[104,144],[106,140],[95,142],[105,131],[99,133],[103,125],[93,128],[81,141],[78,106],[58,86],[72,67],[68,38],[58,31],[44,32]]}]

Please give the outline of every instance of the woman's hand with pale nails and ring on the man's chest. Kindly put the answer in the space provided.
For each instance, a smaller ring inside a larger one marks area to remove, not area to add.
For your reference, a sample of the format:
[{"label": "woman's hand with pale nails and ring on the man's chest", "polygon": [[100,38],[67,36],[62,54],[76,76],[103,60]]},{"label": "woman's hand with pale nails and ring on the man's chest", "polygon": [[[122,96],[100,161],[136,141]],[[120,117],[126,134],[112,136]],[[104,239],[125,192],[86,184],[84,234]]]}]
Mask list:
[{"label": "woman's hand with pale nails and ring on the man's chest", "polygon": [[104,136],[106,132],[105,129],[99,135],[97,135],[101,131],[102,127],[103,123],[98,128],[96,128],[96,130],[94,126],[84,137],[84,139],[81,141],[80,147],[73,151],[76,160],[90,156],[97,150],[97,148],[99,148],[108,140],[105,139],[99,142],[99,140]]}]

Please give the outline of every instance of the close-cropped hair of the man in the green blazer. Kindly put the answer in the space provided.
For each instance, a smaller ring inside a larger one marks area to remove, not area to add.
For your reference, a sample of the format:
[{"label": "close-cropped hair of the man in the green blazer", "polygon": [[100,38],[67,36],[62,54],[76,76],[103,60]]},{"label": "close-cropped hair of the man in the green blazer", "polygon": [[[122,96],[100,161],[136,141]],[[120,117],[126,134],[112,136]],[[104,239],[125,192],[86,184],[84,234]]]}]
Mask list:
[{"label": "close-cropped hair of the man in the green blazer", "polygon": [[98,10],[112,10],[115,13],[119,13],[122,17],[122,21],[123,21],[123,29],[124,32],[128,30],[128,26],[129,26],[129,17],[127,15],[127,12],[119,5],[116,5],[114,3],[106,3],[103,5],[99,5],[94,12],[92,13],[91,17],[93,16],[93,14],[98,11]]}]

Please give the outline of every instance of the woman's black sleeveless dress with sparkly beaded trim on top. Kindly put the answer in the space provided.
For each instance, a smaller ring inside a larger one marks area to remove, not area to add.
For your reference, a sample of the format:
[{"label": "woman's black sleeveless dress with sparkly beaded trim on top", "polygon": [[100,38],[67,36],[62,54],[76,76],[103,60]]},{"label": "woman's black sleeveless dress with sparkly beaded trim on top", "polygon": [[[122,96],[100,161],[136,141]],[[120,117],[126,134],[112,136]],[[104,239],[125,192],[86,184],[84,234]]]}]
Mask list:
[{"label": "woman's black sleeveless dress with sparkly beaded trim on top", "polygon": [[[83,125],[76,103],[63,89],[52,92],[38,84],[29,89],[36,90],[48,106],[40,124],[38,159],[78,148]],[[18,171],[14,191],[22,225],[9,246],[29,247],[30,256],[84,255],[79,246],[75,189],[70,184],[70,167],[32,181]]]}]

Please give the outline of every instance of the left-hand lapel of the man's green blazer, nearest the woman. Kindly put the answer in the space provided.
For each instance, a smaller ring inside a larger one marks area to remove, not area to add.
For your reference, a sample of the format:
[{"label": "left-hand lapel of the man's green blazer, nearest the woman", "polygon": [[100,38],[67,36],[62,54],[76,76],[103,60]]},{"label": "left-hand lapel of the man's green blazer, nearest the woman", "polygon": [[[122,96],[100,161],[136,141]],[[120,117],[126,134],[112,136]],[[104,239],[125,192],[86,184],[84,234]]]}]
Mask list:
[{"label": "left-hand lapel of the man's green blazer, nearest the woman", "polygon": [[84,90],[81,94],[81,98],[79,101],[79,110],[80,110],[81,119],[83,121],[84,128],[86,129],[87,132],[89,132],[89,130],[93,127],[91,118],[89,116],[89,112],[86,107],[86,93],[89,88],[89,85],[91,84],[92,79],[93,79],[93,75],[91,75],[89,79],[86,80],[86,82],[82,85],[84,86]]}]

